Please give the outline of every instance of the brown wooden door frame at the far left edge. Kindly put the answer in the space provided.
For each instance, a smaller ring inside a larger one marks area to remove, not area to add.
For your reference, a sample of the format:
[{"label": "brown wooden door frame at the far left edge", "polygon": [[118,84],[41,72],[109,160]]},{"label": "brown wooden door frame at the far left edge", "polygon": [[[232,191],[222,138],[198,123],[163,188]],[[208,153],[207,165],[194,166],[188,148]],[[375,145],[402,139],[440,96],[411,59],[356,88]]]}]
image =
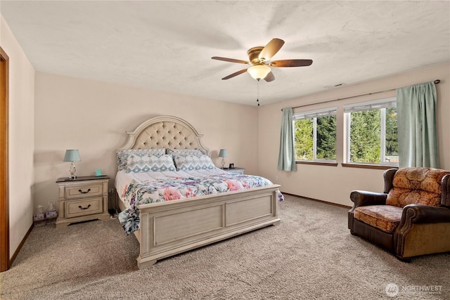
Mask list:
[{"label": "brown wooden door frame at the far left edge", "polygon": [[9,256],[9,57],[0,47],[0,272],[11,267]]}]

